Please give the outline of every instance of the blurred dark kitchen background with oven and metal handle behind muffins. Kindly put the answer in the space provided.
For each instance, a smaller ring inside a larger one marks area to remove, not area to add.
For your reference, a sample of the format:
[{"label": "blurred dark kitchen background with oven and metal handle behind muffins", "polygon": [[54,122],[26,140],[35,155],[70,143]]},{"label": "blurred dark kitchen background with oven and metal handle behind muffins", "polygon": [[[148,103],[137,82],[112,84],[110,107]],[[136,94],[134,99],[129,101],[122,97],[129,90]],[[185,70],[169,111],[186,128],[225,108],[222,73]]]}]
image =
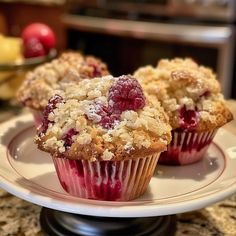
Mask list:
[{"label": "blurred dark kitchen background with oven and metal handle behind muffins", "polygon": [[59,52],[93,54],[114,75],[160,58],[192,57],[212,67],[224,95],[236,98],[234,0],[0,1],[0,33],[20,36],[32,22],[54,30]]}]

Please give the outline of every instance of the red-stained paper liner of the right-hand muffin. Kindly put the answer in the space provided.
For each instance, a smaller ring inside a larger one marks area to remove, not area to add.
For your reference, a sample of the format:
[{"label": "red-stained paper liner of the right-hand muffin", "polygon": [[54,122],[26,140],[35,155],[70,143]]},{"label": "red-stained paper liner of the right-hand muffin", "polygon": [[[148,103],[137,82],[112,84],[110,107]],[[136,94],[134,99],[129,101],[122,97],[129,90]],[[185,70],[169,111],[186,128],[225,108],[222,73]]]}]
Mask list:
[{"label": "red-stained paper liner of the right-hand muffin", "polygon": [[161,153],[158,163],[188,165],[200,161],[211,144],[217,130],[210,132],[172,131],[172,141],[167,151]]}]

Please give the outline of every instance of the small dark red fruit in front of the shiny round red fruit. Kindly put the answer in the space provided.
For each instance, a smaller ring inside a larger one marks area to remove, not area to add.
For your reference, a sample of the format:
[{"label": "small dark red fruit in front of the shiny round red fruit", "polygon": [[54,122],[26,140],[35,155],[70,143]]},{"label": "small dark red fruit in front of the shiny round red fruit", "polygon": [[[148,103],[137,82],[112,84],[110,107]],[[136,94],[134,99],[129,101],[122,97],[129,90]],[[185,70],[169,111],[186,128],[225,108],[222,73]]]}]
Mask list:
[{"label": "small dark red fruit in front of the shiny round red fruit", "polygon": [[24,57],[42,57],[47,53],[37,38],[31,38],[24,44]]}]

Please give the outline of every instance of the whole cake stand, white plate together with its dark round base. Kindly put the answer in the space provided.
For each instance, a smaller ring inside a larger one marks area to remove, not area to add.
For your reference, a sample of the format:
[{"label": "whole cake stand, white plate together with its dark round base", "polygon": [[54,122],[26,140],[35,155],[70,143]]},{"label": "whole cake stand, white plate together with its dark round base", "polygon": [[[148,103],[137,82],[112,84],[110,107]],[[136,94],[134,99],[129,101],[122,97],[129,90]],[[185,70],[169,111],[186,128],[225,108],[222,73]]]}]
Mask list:
[{"label": "whole cake stand, white plate together with its dark round base", "polygon": [[176,213],[206,207],[236,192],[235,136],[219,129],[204,159],[158,165],[146,193],[133,201],[81,199],[67,194],[50,156],[37,150],[30,114],[0,125],[0,187],[43,206],[47,235],[173,235]]}]

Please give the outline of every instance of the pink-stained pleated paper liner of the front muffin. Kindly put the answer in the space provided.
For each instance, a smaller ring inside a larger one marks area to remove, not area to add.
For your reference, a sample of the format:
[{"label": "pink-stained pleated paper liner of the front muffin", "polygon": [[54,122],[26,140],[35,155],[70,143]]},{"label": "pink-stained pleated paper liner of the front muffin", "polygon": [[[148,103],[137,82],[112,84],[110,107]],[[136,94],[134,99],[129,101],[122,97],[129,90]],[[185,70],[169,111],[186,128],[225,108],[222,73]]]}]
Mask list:
[{"label": "pink-stained pleated paper liner of the front muffin", "polygon": [[159,154],[125,161],[69,160],[53,157],[60,183],[86,199],[129,201],[141,196],[153,176]]}]

